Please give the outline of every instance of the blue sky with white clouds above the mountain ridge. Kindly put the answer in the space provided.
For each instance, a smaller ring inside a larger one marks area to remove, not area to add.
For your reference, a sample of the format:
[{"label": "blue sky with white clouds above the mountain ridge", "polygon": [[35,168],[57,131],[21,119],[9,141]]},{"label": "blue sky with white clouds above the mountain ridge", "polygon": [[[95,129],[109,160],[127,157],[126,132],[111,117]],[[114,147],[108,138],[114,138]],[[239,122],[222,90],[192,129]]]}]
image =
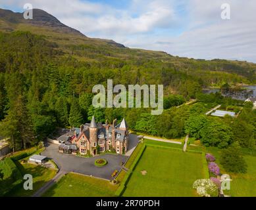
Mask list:
[{"label": "blue sky with white clouds above the mountain ridge", "polygon": [[[126,47],[256,63],[255,0],[0,0],[0,7],[22,12],[25,3]],[[221,18],[224,3],[230,19]]]}]

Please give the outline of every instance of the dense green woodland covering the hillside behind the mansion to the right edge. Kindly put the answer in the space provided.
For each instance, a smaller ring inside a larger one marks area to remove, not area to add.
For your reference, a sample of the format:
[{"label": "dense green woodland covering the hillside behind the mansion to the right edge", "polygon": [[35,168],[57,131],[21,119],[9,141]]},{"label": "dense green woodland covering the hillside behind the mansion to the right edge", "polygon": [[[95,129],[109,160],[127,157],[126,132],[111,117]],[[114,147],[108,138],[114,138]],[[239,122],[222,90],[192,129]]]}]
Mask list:
[{"label": "dense green woodland covering the hillside behind the mansion to the right edge", "polygon": [[[178,58],[112,44],[63,44],[24,31],[0,32],[0,46],[0,136],[10,137],[15,150],[37,144],[57,127],[79,127],[93,114],[101,122],[125,116],[130,129],[149,135],[179,138],[190,133],[207,146],[223,148],[234,141],[255,146],[256,114],[251,104],[236,119],[209,121],[203,102],[225,106],[241,102],[203,95],[202,89],[254,83],[256,65]],[[107,79],[126,87],[163,84],[165,111],[151,116],[142,108],[93,108],[91,89],[95,84],[106,87]],[[201,103],[176,108],[191,98]]]}]

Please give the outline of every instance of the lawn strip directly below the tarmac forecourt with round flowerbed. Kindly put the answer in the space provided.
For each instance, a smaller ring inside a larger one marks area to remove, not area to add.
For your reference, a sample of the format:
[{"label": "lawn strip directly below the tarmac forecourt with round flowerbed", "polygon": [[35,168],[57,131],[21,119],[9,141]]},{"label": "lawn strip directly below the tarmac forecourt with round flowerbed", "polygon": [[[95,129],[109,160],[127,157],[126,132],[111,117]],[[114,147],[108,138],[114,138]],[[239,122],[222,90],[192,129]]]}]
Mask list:
[{"label": "lawn strip directly below the tarmac forecourt with round flowerbed", "polygon": [[53,185],[44,197],[107,197],[114,196],[118,185],[110,181],[68,173]]}]

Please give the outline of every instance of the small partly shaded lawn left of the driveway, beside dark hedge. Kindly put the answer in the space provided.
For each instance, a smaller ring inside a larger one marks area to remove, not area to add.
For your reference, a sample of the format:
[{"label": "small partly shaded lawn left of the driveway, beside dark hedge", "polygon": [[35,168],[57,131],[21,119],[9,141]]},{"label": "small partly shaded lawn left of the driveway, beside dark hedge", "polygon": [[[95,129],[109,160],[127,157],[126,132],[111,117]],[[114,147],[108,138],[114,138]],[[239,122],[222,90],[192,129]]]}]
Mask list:
[{"label": "small partly shaded lawn left of the driveway, beside dark hedge", "polygon": [[[19,188],[15,190],[11,190],[7,196],[32,196],[39,188],[41,188],[44,184],[46,184],[49,180],[53,179],[56,175],[56,171],[54,169],[47,169],[45,167],[41,167],[39,165],[33,165],[29,163],[16,163],[18,164],[18,169],[22,175],[30,174],[33,177],[33,190],[24,190],[23,184]],[[22,180],[23,182],[24,180]]]}]

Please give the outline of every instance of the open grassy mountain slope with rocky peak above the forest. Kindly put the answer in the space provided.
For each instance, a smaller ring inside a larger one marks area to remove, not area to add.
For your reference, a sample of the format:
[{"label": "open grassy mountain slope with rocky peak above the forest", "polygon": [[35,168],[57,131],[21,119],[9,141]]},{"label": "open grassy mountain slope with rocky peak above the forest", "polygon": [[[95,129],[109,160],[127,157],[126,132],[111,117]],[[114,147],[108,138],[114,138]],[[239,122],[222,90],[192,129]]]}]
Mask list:
[{"label": "open grassy mountain slope with rocky peak above the forest", "polygon": [[256,64],[230,60],[195,60],[171,56],[160,51],[129,49],[112,40],[86,37],[45,11],[34,9],[33,13],[33,20],[25,20],[22,13],[0,9],[0,31],[30,31],[42,35],[43,39],[52,43],[51,45],[57,44],[57,54],[71,56],[80,62],[97,62],[102,65],[114,60],[119,63],[117,66],[123,66],[126,62],[149,69],[153,66],[161,66],[167,70],[174,68],[184,74],[196,77],[201,75],[202,80],[211,75],[213,79],[205,83],[210,82],[213,85],[220,81],[230,81],[221,79],[224,72],[225,78],[236,78],[232,79],[233,83],[256,83]]}]

